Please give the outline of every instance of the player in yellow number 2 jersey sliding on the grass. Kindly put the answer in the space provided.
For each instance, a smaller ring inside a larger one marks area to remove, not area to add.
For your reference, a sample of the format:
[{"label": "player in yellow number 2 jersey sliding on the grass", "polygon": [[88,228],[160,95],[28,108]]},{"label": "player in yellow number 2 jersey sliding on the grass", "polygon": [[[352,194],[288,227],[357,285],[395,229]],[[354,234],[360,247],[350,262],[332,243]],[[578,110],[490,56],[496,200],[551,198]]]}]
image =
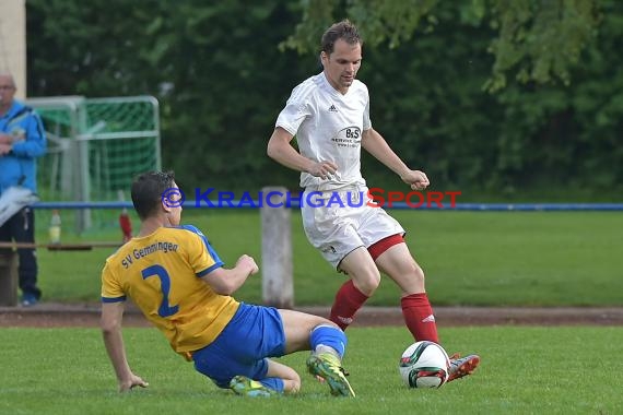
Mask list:
[{"label": "player in yellow number 2 jersey sliding on the grass", "polygon": [[238,303],[231,295],[258,272],[243,254],[232,269],[195,226],[180,225],[181,201],[173,173],[151,171],[132,183],[139,235],[106,260],[102,272],[102,331],[119,391],[148,387],[130,369],[121,336],[126,298],[167,337],[175,352],[219,388],[247,396],[301,389],[301,377],[269,357],[312,351],[309,372],[331,394],[354,396],[341,365],[344,332],[304,312]]}]

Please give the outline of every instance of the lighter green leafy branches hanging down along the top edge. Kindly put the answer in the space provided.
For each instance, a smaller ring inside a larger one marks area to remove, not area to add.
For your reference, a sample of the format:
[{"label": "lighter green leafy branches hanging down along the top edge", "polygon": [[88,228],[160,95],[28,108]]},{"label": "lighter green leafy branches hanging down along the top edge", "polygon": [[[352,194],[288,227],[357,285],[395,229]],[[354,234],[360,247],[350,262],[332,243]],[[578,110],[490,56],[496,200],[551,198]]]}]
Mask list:
[{"label": "lighter green leafy branches hanging down along the top edge", "polygon": [[[314,49],[321,31],[348,15],[373,47],[409,42],[420,28],[434,31],[439,0],[304,0],[303,17],[282,48]],[[463,23],[489,25],[495,61],[483,87],[496,92],[519,83],[571,82],[571,70],[597,34],[599,0],[472,0],[455,4]],[[340,19],[340,17],[338,17]]]}]

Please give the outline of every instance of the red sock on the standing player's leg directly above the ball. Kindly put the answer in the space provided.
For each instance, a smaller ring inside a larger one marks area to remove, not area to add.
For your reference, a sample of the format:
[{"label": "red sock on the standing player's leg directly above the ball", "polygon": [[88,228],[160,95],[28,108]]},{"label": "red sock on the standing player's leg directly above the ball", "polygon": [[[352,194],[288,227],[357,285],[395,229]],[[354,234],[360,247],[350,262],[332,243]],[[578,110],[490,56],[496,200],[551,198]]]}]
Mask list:
[{"label": "red sock on the standing player's leg directly above the ball", "polygon": [[407,328],[409,328],[415,341],[427,340],[439,343],[435,316],[426,293],[402,297],[400,305],[402,306],[402,316],[404,316]]}]

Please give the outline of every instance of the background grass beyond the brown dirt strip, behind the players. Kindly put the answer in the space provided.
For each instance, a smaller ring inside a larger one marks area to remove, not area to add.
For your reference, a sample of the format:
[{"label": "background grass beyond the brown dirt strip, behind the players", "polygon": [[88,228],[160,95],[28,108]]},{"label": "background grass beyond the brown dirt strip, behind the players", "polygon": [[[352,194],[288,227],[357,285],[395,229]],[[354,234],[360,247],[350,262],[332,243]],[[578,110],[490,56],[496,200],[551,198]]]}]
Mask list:
[{"label": "background grass beyond the brown dirt strip, behind the players", "polygon": [[[623,214],[620,212],[391,211],[408,230],[411,251],[424,268],[434,305],[616,306],[623,292]],[[45,241],[49,212],[37,212]],[[106,216],[107,215],[107,216]],[[63,224],[64,240],[118,240],[116,213],[101,214],[80,237]],[[186,210],[232,265],[242,253],[261,269],[257,211]],[[70,212],[63,217],[71,218]],[[103,218],[102,218],[103,217]],[[133,218],[134,227],[138,221]],[[136,229],[137,230],[137,229]],[[292,215],[296,305],[328,305],[344,281],[307,242],[298,211]],[[99,271],[110,249],[50,252],[39,249],[45,300],[97,300]],[[261,277],[251,277],[239,299],[261,301]],[[384,280],[369,305],[397,305],[398,290]]]}]

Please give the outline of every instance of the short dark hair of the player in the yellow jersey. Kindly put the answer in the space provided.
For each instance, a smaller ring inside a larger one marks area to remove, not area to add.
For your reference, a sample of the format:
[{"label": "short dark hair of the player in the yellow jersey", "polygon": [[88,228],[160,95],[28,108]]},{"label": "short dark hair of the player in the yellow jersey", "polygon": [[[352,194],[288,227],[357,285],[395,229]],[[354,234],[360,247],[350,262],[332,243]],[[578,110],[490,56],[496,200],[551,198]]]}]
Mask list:
[{"label": "short dark hair of the player in the yellow jersey", "polygon": [[141,220],[157,212],[165,191],[171,189],[174,182],[173,171],[148,171],[137,176],[132,182],[132,204]]}]

